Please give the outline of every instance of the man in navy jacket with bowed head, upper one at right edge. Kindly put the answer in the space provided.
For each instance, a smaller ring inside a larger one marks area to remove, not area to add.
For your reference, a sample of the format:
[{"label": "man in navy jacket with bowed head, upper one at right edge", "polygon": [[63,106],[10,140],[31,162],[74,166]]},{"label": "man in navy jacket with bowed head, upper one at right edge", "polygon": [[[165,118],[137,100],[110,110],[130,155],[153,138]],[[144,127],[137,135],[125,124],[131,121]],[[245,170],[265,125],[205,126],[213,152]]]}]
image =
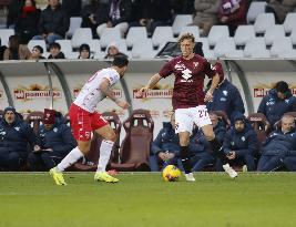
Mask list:
[{"label": "man in navy jacket with bowed head, upper one at right edge", "polygon": [[263,97],[257,112],[263,113],[271,125],[274,125],[284,113],[293,111],[296,111],[296,97],[292,95],[288,84],[285,81],[279,81]]}]

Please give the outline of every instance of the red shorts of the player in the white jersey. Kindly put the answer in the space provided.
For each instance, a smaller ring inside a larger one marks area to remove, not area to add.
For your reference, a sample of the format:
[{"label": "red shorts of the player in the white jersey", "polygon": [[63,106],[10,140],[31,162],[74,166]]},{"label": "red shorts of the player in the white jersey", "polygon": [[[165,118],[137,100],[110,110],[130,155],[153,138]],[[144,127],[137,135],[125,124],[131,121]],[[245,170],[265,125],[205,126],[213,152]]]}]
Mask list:
[{"label": "red shorts of the player in the white jersey", "polygon": [[100,113],[90,113],[75,104],[70,106],[69,116],[76,141],[90,141],[93,131],[108,125],[108,121]]}]

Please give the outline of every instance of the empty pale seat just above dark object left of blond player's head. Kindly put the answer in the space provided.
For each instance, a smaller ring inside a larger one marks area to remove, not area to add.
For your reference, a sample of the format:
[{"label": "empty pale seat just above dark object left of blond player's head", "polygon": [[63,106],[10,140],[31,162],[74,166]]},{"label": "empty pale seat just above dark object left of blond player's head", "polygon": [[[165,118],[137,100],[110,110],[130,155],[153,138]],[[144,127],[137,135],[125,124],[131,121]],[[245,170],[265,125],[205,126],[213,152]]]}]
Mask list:
[{"label": "empty pale seat just above dark object left of blond player's head", "polygon": [[169,41],[174,41],[172,27],[156,27],[152,34],[153,47],[160,47]]}]

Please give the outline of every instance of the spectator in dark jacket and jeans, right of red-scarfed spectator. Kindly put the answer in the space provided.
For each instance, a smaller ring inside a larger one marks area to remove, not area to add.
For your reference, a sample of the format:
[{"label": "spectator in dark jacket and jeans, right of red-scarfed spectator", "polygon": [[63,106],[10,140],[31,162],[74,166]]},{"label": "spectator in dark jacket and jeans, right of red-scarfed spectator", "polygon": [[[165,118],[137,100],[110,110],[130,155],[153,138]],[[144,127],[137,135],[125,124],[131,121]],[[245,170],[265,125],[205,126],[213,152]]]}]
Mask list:
[{"label": "spectator in dark jacket and jeans, right of red-scarfed spectator", "polygon": [[59,0],[49,0],[49,6],[40,14],[39,34],[34,40],[45,40],[49,44],[64,39],[69,30],[70,18],[62,9]]}]

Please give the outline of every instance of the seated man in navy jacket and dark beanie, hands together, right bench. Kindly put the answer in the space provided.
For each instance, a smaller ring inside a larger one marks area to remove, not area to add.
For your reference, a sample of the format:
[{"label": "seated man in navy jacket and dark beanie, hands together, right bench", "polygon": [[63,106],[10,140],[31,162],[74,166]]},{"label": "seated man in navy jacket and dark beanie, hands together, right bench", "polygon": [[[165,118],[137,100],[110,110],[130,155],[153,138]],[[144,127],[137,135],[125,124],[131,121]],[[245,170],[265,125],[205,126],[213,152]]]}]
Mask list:
[{"label": "seated man in navy jacket and dark beanie, hands together, right bench", "polygon": [[256,133],[243,114],[234,117],[234,126],[225,134],[223,148],[229,161],[243,163],[247,171],[256,169],[255,156],[259,149],[259,143]]}]

